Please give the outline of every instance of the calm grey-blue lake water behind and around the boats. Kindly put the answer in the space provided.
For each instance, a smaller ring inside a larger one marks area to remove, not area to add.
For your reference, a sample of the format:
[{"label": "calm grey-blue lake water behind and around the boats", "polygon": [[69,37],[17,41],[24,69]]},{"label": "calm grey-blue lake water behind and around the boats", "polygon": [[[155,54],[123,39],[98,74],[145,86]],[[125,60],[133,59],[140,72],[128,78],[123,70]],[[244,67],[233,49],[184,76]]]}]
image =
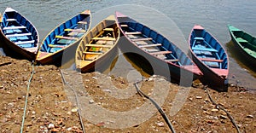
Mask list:
[{"label": "calm grey-blue lake water behind and around the boats", "polygon": [[252,0],[1,0],[0,12],[6,7],[16,9],[37,26],[42,40],[45,35],[62,21],[84,9],[93,13],[93,25],[108,14],[120,11],[129,14],[144,24],[164,33],[173,43],[187,50],[189,32],[195,24],[204,26],[208,32],[224,45],[230,55],[230,83],[241,84],[256,90],[256,74],[244,66],[234,52],[227,24],[236,26],[256,36],[256,1]]}]

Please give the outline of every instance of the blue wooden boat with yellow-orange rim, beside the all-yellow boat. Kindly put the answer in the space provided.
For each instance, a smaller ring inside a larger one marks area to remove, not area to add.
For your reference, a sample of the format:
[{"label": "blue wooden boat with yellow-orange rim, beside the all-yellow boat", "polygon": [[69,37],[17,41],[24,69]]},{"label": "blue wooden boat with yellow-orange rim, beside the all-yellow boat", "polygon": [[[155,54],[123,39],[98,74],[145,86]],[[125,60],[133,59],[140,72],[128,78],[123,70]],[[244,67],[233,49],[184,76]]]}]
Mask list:
[{"label": "blue wooden boat with yellow-orange rim, beside the all-yellow boat", "polygon": [[84,10],[56,26],[44,38],[36,61],[41,65],[59,63],[64,51],[65,54],[68,53],[68,57],[65,56],[65,58],[72,59],[79,42],[90,29],[90,21],[90,10]]}]

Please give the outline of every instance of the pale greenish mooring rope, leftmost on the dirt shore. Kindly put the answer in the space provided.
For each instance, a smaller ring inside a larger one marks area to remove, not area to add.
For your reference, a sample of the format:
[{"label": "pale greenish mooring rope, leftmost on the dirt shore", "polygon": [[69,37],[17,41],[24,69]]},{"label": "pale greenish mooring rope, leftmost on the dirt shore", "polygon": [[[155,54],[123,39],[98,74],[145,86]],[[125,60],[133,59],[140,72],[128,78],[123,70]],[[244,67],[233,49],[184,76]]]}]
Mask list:
[{"label": "pale greenish mooring rope, leftmost on the dirt shore", "polygon": [[27,84],[27,88],[26,88],[26,101],[25,101],[25,105],[24,105],[24,113],[22,116],[22,123],[21,123],[21,127],[20,127],[20,133],[23,132],[23,128],[24,128],[24,123],[25,123],[25,118],[26,118],[26,105],[27,105],[27,99],[28,99],[28,95],[29,95],[29,89],[30,89],[30,84],[33,78],[33,74],[34,74],[34,61],[32,61],[32,72],[31,72],[31,76],[28,80],[28,84]]}]

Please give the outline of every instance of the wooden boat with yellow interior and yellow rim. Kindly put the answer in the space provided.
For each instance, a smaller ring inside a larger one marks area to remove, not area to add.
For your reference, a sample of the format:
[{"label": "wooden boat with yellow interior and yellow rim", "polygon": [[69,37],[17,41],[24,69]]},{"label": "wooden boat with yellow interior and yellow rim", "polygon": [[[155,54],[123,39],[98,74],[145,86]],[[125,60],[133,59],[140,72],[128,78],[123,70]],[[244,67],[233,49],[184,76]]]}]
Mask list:
[{"label": "wooden boat with yellow interior and yellow rim", "polygon": [[80,72],[108,67],[117,55],[119,28],[113,15],[102,20],[88,32],[76,50],[75,64]]}]

